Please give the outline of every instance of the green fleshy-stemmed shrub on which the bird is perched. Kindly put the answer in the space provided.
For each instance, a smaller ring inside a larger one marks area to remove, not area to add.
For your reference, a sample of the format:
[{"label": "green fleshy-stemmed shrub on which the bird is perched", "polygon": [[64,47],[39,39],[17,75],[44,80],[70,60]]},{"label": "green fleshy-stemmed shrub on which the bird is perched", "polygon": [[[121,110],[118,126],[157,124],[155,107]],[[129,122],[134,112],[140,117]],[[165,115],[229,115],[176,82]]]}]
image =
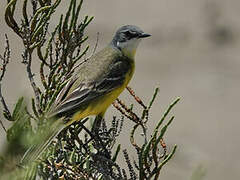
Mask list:
[{"label": "green fleshy-stemmed shrub on which the bird is perched", "polygon": [[[34,97],[31,98],[28,106],[21,97],[12,112],[8,109],[1,92],[2,79],[10,60],[10,46],[6,36],[5,51],[0,55],[2,60],[0,100],[4,109],[3,115],[6,120],[12,121],[12,125],[6,130],[3,121],[0,120],[8,140],[8,146],[0,161],[2,174],[0,179],[159,179],[162,167],[176,151],[174,146],[168,153],[163,139],[174,116],[165,123],[166,118],[179,98],[157,121],[154,130],[149,132],[147,129],[149,114],[158,88],[149,104],[145,105],[128,87],[130,96],[142,109],[140,114],[134,112],[133,106],[129,107],[122,100],[117,99],[113,106],[121,116],[103,120],[98,129],[98,136],[95,136],[86,124],[91,118],[85,118],[65,128],[36,162],[26,166],[19,164],[20,157],[33,143],[33,137],[41,129],[47,128],[44,115],[58,100],[59,92],[75,69],[89,59],[86,57],[89,46],[85,45],[88,39],[85,30],[93,17],[84,16],[80,20],[83,0],[71,0],[68,10],[60,16],[57,25],[51,31],[49,23],[60,4],[61,0],[24,0],[23,2],[7,0],[5,21],[22,40],[23,51],[20,63],[26,67]],[[21,16],[18,17],[19,22],[16,20],[16,8],[22,10]],[[35,82],[32,72],[32,62],[35,60],[40,62],[37,73],[41,79],[40,84]],[[129,138],[132,147],[136,150],[135,160],[131,160],[128,150],[122,150],[121,144],[118,143],[118,137],[126,121],[130,121],[132,125]],[[142,131],[141,143],[135,140],[136,136],[139,136],[136,133],[139,130]],[[118,162],[121,152],[127,165],[124,167]]]}]

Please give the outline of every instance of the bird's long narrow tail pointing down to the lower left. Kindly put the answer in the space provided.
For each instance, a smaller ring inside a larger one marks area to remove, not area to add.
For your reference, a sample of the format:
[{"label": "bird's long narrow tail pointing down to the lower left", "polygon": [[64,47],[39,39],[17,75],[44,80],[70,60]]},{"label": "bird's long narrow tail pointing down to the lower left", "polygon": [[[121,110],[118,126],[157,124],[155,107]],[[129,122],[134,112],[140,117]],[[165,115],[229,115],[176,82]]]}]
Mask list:
[{"label": "bird's long narrow tail pointing down to the lower left", "polygon": [[46,126],[41,133],[36,134],[33,145],[25,152],[21,159],[21,164],[25,165],[35,161],[48,147],[52,140],[65,128],[63,119],[57,119],[49,126]]}]

